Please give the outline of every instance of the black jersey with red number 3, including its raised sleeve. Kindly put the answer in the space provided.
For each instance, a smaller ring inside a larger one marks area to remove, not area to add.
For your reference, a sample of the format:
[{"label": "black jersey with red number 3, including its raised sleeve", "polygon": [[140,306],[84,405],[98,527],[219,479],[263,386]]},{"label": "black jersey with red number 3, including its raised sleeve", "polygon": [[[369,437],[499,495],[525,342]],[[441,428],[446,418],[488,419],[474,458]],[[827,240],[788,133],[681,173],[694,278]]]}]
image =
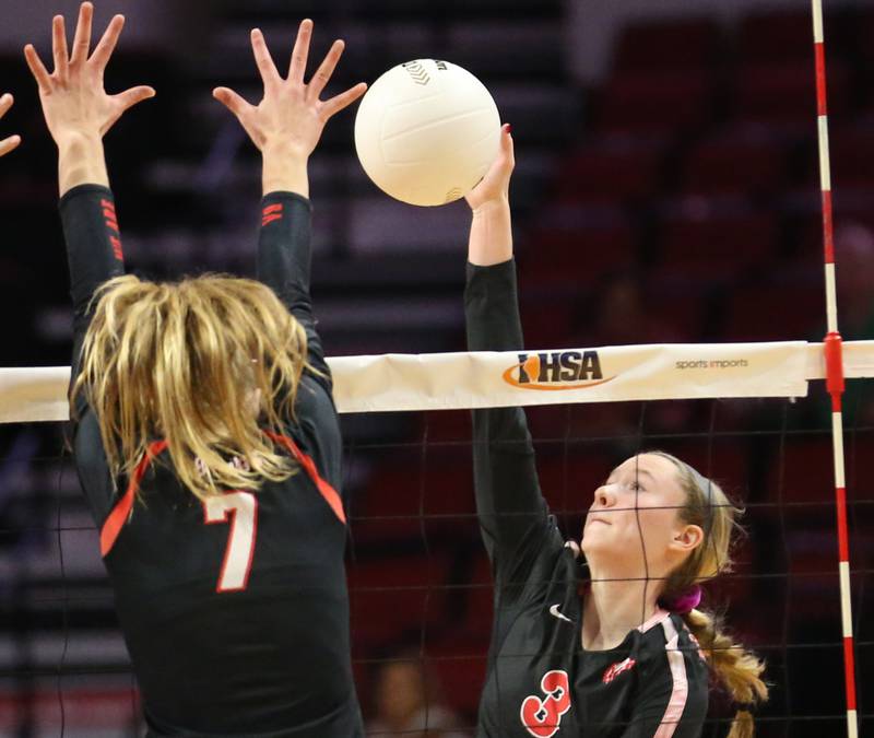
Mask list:
[{"label": "black jersey with red number 3, including its raised sleeve", "polygon": [[[522,347],[512,260],[468,266],[468,343]],[[495,617],[477,736],[694,738],[708,669],[683,619],[659,611],[609,651],[583,651],[580,564],[540,491],[521,408],[473,412],[480,526]]]}]

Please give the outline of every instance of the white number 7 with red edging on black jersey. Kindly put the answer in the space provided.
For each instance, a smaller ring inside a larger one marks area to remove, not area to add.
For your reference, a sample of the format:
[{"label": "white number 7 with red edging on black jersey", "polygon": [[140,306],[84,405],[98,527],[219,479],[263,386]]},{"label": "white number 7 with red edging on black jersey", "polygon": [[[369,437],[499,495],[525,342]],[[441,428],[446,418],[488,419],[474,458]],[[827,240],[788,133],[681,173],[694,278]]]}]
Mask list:
[{"label": "white number 7 with red edging on black jersey", "polygon": [[225,560],[215,591],[246,589],[252,567],[255,539],[258,534],[258,501],[251,492],[226,492],[203,502],[204,523],[228,523]]}]

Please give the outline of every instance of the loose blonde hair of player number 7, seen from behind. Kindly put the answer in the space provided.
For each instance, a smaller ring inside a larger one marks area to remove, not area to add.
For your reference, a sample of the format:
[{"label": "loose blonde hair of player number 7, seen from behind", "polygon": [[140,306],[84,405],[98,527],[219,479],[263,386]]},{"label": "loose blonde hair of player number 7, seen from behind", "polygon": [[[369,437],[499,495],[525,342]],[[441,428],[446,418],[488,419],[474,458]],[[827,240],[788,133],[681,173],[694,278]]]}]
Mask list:
[{"label": "loose blonde hair of player number 7, seen from behind", "polygon": [[294,418],[307,340],[268,286],[223,274],[161,284],[128,274],[102,285],[91,307],[71,408],[84,394],[114,480],[130,478],[156,438],[201,500],[295,473],[264,430],[284,434]]}]

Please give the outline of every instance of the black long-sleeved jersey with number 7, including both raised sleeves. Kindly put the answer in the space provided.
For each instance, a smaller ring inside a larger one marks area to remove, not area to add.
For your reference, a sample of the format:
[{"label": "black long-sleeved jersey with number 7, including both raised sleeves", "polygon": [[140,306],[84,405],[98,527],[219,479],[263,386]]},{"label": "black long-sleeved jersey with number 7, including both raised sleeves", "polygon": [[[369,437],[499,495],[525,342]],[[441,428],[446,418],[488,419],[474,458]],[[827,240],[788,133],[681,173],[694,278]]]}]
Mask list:
[{"label": "black long-sleeved jersey with number 7, including both raised sleeves", "polygon": [[[133,479],[113,483],[94,412],[78,400],[73,448],[142,693],[150,736],[350,738],[363,735],[352,680],[341,438],[309,300],[310,206],[263,200],[259,278],[304,326],[308,361],[296,422],[274,435],[300,471],[256,493],[202,503],[161,440]],[[123,271],[103,187],[60,204],[74,305],[73,378],[88,301]],[[141,491],[142,504],[134,501]]]}]

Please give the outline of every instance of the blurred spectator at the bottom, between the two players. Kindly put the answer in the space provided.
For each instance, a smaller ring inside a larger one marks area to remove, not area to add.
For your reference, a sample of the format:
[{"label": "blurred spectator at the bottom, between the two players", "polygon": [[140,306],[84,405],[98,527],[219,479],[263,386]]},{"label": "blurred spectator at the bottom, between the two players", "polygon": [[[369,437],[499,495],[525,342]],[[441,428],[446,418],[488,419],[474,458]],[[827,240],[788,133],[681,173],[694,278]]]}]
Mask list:
[{"label": "blurred spectator at the bottom, between the two players", "polygon": [[461,719],[441,704],[434,672],[415,651],[403,651],[379,664],[373,692],[374,715],[368,736],[464,738]]}]

